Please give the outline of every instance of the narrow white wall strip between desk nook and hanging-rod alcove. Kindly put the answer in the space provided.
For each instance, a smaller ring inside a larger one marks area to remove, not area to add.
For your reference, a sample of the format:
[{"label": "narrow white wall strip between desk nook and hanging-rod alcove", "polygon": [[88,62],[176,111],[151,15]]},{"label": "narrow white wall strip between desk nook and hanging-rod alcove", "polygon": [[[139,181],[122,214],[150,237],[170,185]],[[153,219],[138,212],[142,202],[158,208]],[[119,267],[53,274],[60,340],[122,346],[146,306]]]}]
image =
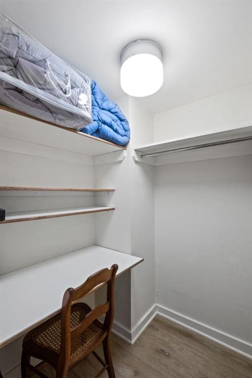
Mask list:
[{"label": "narrow white wall strip between desk nook and hanging-rod alcove", "polygon": [[[153,142],[153,116],[130,98],[130,146]],[[154,243],[154,167],[130,159],[131,253],[144,262],[131,272],[131,329],[156,302]]]}]

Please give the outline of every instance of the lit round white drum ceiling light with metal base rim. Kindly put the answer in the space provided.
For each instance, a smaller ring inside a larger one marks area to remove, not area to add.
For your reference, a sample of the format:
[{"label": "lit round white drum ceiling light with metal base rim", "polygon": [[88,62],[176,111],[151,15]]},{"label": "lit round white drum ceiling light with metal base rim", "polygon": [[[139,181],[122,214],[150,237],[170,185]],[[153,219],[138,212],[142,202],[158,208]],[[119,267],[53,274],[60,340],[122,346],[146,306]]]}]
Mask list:
[{"label": "lit round white drum ceiling light with metal base rim", "polygon": [[163,84],[162,49],[151,39],[136,39],[121,53],[121,87],[127,95],[153,95]]}]

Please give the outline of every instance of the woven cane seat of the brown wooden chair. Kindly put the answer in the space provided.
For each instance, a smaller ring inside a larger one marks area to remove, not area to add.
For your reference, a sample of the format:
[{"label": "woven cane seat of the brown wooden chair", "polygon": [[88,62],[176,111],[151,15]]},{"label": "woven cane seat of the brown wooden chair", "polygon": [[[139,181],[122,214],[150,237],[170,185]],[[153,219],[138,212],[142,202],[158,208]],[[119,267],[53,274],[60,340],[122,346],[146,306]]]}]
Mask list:
[{"label": "woven cane seat of the brown wooden chair", "polygon": [[[91,308],[84,303],[77,303],[71,308],[71,328],[78,325],[91,311]],[[104,330],[102,323],[95,322],[82,332],[78,337],[71,339],[71,359],[82,353],[90,344],[99,339]],[[61,347],[61,314],[55,315],[45,323],[38,326],[32,334],[33,343],[60,353]]]}]

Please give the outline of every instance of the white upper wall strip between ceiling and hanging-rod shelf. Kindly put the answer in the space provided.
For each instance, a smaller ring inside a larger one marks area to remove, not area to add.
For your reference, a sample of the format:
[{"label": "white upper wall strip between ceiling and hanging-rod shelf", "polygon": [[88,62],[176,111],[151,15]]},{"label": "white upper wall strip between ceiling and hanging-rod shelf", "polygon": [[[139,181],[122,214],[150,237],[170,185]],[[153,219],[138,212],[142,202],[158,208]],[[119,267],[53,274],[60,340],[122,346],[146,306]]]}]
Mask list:
[{"label": "white upper wall strip between ceiling and hanging-rod shelf", "polygon": [[252,85],[154,116],[154,141],[252,125]]}]

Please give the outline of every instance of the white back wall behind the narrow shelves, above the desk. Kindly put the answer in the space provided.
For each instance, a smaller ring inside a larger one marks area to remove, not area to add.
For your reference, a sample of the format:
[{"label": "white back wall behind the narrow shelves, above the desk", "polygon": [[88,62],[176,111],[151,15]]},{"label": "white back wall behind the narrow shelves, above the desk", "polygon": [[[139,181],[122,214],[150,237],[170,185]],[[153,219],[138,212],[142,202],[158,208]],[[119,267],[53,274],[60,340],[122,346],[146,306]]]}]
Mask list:
[{"label": "white back wall behind the narrow shelves, above the desk", "polygon": [[[93,166],[67,162],[59,157],[29,155],[25,149],[26,143],[23,144],[23,151],[18,153],[4,151],[4,141],[0,144],[2,186],[94,186]],[[46,153],[45,150],[45,156]],[[55,195],[53,192],[49,195],[30,193],[29,196],[14,193],[8,197],[0,193],[0,203],[6,211],[15,212],[89,206],[93,205],[94,199],[92,196]],[[2,224],[0,241],[0,274],[3,274],[94,244],[94,215]]]}]

